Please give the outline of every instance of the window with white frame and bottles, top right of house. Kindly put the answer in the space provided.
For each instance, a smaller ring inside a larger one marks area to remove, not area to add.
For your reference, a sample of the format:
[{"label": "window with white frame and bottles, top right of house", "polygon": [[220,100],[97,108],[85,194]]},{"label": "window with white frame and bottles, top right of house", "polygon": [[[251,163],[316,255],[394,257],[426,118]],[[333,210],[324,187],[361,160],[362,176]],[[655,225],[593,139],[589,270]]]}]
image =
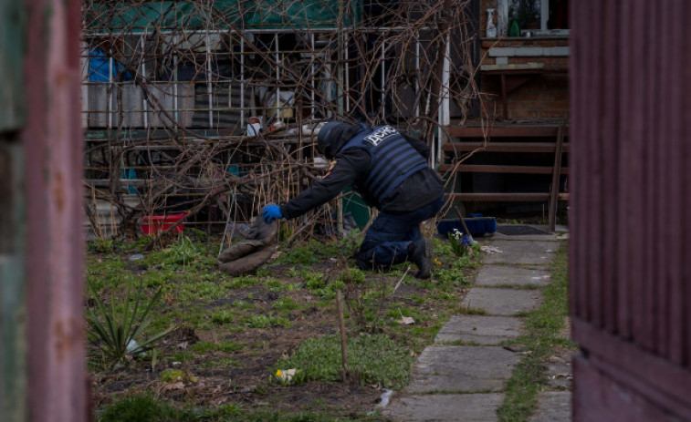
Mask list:
[{"label": "window with white frame and bottles, top right of house", "polygon": [[566,35],[569,0],[498,0],[499,34]]}]

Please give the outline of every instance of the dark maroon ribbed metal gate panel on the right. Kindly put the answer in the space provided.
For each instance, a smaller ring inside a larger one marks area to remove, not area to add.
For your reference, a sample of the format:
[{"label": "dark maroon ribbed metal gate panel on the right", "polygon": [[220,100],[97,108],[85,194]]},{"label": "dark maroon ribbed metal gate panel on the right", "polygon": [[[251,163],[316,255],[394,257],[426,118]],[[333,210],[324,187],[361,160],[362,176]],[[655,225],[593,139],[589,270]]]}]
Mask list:
[{"label": "dark maroon ribbed metal gate panel on the right", "polygon": [[570,13],[574,420],[691,420],[691,8]]}]

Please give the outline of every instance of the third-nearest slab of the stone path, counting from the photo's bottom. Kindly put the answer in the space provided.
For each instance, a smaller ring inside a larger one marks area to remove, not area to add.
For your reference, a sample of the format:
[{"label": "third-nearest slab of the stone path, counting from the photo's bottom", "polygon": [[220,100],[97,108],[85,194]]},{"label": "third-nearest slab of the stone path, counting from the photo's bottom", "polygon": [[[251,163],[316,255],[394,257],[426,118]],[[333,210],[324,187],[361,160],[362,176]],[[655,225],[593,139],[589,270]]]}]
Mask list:
[{"label": "third-nearest slab of the stone path, counting from the photo's bottom", "polygon": [[497,345],[518,337],[523,323],[508,316],[455,315],[444,324],[434,343],[477,343]]}]

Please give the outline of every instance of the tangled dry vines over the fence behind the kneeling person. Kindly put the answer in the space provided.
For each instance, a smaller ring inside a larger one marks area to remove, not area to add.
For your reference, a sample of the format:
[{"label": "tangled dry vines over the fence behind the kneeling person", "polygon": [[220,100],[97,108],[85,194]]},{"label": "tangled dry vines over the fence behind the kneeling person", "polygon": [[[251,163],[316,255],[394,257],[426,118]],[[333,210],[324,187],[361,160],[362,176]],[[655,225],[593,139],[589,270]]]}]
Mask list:
[{"label": "tangled dry vines over the fence behind the kneeling person", "polygon": [[434,147],[445,98],[452,118],[479,115],[470,4],[85,1],[91,224],[103,225],[102,204],[120,235],[180,211],[249,221],[323,174],[314,133],[330,119],[392,124]]}]

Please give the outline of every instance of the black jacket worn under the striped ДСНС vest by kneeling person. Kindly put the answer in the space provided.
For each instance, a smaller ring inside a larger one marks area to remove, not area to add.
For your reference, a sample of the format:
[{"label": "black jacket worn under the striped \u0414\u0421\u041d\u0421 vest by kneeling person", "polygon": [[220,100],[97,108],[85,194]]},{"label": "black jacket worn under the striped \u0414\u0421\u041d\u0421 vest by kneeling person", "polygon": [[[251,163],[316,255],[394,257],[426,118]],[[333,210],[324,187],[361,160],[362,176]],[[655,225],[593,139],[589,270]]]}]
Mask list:
[{"label": "black jacket worn under the striped \u0414\u0421\u041d\u0421 vest by kneeling person", "polygon": [[[335,159],[333,168],[317,180],[307,190],[303,190],[296,198],[281,205],[280,210],[287,219],[298,217],[305,212],[330,201],[346,188],[353,187],[361,194],[362,199],[380,211],[390,213],[405,213],[428,205],[444,194],[444,186],[436,172],[429,167],[417,171],[393,190],[388,198],[377,203],[366,190],[361,190],[369,171],[371,170],[370,153],[365,149],[342,149],[355,135],[362,130],[359,126],[342,124],[330,130],[330,141],[320,145],[327,158]],[[424,159],[429,157],[427,144],[405,134],[403,138]]]}]

